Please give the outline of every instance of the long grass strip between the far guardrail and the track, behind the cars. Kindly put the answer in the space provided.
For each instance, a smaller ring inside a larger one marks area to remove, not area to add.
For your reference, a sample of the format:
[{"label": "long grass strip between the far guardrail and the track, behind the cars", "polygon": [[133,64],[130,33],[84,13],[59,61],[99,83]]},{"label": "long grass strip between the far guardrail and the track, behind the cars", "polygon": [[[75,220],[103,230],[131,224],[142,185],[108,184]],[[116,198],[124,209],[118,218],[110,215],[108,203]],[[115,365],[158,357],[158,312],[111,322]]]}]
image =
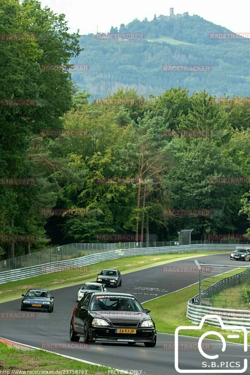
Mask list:
[{"label": "long grass strip between the far guardrail and the track, behind the cars", "polygon": [[0,302],[21,297],[29,288],[46,288],[49,290],[67,287],[71,285],[81,284],[87,281],[93,281],[97,273],[105,268],[119,269],[122,273],[134,272],[160,264],[172,262],[173,260],[181,260],[195,258],[201,255],[217,254],[216,251],[211,252],[186,252],[180,254],[160,254],[160,255],[139,255],[136,257],[119,258],[117,260],[109,260],[87,268],[69,269],[48,273],[46,275],[35,276],[24,280],[11,281],[0,284]]}]

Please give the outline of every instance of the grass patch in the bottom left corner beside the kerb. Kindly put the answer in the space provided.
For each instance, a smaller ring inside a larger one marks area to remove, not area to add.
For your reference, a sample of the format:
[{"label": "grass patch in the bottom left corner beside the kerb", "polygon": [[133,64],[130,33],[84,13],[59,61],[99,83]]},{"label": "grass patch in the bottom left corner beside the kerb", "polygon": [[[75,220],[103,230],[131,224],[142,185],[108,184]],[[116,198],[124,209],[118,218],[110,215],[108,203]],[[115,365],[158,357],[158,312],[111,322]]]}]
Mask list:
[{"label": "grass patch in the bottom left corner beside the kerb", "polygon": [[[0,342],[0,369],[11,371],[81,370],[81,374],[108,374],[108,368],[57,356],[44,350],[22,350]],[[66,372],[65,372],[66,374]]]}]

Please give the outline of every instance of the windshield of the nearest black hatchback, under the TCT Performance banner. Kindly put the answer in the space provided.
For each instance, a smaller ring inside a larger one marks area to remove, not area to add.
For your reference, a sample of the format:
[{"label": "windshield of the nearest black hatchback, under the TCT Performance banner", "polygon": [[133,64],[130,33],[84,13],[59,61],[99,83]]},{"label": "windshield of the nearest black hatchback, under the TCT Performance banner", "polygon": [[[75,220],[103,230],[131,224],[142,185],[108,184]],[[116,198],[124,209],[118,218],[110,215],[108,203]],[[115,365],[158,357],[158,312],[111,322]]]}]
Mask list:
[{"label": "windshield of the nearest black hatchback, under the TCT Performance banner", "polygon": [[135,297],[127,296],[93,296],[90,310],[144,312]]}]

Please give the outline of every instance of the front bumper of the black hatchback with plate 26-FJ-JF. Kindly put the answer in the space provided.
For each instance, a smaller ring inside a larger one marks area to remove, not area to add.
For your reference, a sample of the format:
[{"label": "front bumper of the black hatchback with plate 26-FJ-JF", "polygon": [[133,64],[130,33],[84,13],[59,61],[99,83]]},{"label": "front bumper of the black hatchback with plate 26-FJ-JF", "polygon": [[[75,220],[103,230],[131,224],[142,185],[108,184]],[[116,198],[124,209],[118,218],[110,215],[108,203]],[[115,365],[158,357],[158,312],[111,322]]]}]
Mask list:
[{"label": "front bumper of the black hatchback with plate 26-FJ-JF", "polygon": [[[115,333],[118,327],[91,327],[90,340],[106,342],[154,342],[156,329],[152,328],[135,328],[136,333]],[[120,327],[124,328],[124,327]]]}]

